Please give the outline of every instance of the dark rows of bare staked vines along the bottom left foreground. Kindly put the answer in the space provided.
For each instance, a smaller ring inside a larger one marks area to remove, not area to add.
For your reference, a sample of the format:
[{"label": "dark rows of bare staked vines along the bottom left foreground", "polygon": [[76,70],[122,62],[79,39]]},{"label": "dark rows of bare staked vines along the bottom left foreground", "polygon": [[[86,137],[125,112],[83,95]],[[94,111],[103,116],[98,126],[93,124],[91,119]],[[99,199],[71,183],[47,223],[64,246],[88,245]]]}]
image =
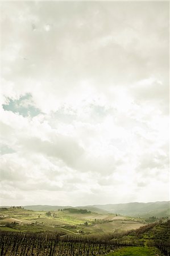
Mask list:
[{"label": "dark rows of bare staked vines along the bottom left foreground", "polygon": [[118,249],[117,242],[95,238],[60,237],[59,234],[0,233],[1,256],[60,255],[91,256],[102,255]]}]

